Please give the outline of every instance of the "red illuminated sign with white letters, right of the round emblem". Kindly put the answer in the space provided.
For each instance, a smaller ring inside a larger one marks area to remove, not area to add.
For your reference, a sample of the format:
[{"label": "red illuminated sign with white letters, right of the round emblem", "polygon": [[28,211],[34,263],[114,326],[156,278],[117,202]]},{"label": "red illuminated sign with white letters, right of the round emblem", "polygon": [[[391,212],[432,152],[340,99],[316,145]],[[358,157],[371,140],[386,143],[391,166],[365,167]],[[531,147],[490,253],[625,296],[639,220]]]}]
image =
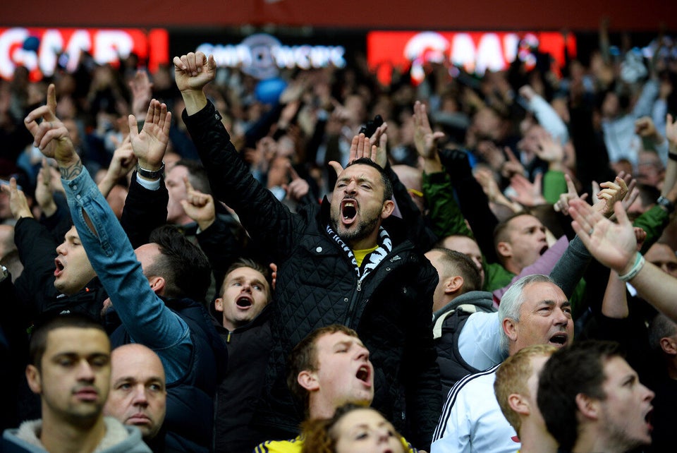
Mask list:
[{"label": "red illuminated sign with white letters, right of the round emblem", "polygon": [[559,67],[565,64],[565,49],[575,56],[574,37],[557,32],[370,32],[367,63],[384,84],[390,82],[391,68],[409,66],[413,80],[420,82],[427,62],[448,61],[482,75],[504,71],[516,58],[532,66],[536,47]]}]

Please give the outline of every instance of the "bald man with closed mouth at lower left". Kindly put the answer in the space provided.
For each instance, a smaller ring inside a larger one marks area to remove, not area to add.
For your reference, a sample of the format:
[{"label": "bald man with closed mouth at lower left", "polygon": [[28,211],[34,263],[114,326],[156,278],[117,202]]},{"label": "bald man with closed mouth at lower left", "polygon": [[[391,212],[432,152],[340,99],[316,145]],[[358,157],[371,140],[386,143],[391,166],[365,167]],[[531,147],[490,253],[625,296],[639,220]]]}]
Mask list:
[{"label": "bald man with closed mouth at lower left", "polygon": [[166,398],[164,368],[154,351],[136,343],[113,350],[111,391],[104,414],[139,428],[153,451],[158,451],[157,444],[164,444],[158,433],[164,422]]}]

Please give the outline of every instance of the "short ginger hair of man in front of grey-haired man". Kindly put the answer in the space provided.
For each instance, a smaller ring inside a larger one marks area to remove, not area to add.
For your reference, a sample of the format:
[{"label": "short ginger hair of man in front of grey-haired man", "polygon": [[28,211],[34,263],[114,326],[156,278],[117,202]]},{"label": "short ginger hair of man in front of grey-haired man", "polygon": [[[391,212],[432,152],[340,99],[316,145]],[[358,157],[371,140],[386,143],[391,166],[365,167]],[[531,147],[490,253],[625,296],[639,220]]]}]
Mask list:
[{"label": "short ginger hair of man in front of grey-haired man", "polygon": [[[496,380],[494,380],[496,400],[499,401],[501,412],[503,412],[508,423],[515,428],[517,435],[520,435],[522,421],[520,420],[518,413],[513,411],[510,404],[508,404],[508,398],[513,393],[523,395],[529,394],[527,380],[534,371],[531,366],[532,358],[551,356],[555,351],[557,351],[557,348],[549,344],[534,344],[532,346],[527,346],[520,349],[513,356],[508,357],[506,361],[499,366],[499,369],[496,370]],[[536,395],[530,395],[530,397],[536,401]]]}]

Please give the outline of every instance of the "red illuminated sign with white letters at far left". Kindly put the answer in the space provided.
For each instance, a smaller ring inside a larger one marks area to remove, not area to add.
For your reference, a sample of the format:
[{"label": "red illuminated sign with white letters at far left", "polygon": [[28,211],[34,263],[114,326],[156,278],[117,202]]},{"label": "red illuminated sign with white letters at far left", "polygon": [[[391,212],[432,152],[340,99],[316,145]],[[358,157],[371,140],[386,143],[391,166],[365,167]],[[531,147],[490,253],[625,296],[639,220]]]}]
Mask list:
[{"label": "red illuminated sign with white letters at far left", "polygon": [[134,53],[154,72],[169,63],[169,37],[163,29],[0,28],[0,77],[12,78],[18,65],[31,80],[53,75],[59,66],[72,72],[84,52],[97,64],[114,65]]}]

